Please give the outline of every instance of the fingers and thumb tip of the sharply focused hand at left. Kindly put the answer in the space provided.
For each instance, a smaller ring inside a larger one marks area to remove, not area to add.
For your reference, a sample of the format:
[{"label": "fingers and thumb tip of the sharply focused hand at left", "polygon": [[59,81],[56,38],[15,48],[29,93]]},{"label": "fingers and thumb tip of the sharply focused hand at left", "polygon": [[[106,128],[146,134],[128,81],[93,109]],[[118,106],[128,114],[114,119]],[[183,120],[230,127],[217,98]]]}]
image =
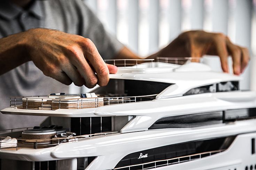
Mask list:
[{"label": "fingers and thumb tip of the sharply focused hand at left", "polygon": [[117,72],[116,66],[107,65],[104,62],[91,40],[84,39],[82,48],[80,46],[68,48],[68,55],[72,56],[69,57],[69,60],[75,67],[67,66],[62,70],[67,73],[75,85],[82,86],[82,79],[84,79],[88,88],[94,87],[97,83],[100,86],[105,86],[109,82],[109,73]]}]

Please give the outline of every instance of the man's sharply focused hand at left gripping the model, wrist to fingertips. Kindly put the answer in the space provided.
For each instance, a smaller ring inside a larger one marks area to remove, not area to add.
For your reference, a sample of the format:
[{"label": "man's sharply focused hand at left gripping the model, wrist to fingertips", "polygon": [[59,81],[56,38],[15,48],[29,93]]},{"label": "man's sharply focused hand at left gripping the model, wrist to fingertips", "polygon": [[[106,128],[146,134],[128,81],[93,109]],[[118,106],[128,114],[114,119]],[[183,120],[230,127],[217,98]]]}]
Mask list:
[{"label": "man's sharply focused hand at left gripping the model, wrist to fingertips", "polygon": [[26,32],[29,60],[59,82],[88,88],[105,86],[117,67],[106,64],[90,39],[57,30],[35,28]]}]

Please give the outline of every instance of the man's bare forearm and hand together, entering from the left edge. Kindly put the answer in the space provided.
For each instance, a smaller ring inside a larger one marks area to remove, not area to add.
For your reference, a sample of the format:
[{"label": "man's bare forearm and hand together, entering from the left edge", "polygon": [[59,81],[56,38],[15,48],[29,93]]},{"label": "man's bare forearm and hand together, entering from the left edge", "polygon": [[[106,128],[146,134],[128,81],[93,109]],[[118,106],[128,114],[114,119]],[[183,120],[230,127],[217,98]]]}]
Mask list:
[{"label": "man's bare forearm and hand together, entering from the left edge", "polygon": [[0,61],[0,74],[33,61],[46,76],[89,88],[107,85],[109,73],[117,71],[106,65],[90,39],[44,28],[0,39]]}]

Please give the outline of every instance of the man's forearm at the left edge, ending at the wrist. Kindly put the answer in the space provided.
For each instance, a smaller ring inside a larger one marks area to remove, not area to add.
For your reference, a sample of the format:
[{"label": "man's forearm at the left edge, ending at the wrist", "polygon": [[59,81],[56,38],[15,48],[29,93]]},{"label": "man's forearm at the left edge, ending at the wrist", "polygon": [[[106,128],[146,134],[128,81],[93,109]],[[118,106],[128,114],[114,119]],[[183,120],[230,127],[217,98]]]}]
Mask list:
[{"label": "man's forearm at the left edge, ending at the wrist", "polygon": [[0,39],[0,75],[29,61],[26,51],[24,32]]}]

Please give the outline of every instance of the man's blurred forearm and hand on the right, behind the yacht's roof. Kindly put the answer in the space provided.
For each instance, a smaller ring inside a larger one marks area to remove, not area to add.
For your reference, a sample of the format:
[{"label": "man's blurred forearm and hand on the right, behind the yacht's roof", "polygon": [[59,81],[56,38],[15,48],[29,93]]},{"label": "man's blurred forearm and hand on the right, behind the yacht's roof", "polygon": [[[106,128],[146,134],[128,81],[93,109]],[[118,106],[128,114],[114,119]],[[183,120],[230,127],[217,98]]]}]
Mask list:
[{"label": "man's blurred forearm and hand on the right, behind the yacht's roof", "polygon": [[202,57],[205,54],[219,56],[224,72],[228,72],[227,57],[231,56],[234,74],[236,75],[245,70],[250,60],[247,48],[233,44],[224,34],[204,31],[181,33],[168,46],[149,58]]}]

